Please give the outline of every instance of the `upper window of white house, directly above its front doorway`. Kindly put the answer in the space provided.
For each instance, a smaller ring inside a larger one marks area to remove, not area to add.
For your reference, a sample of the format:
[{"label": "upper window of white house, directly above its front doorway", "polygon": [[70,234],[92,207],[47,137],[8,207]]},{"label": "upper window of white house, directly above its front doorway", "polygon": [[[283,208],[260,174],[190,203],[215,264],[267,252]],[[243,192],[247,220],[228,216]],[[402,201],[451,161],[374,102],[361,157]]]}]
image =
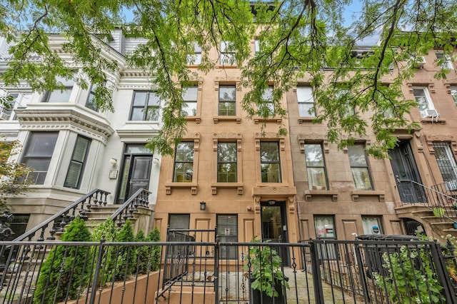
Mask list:
[{"label": "upper window of white house, directly above its front doorway", "polygon": [[157,121],[159,119],[160,99],[156,92],[134,91],[131,104],[131,121]]}]

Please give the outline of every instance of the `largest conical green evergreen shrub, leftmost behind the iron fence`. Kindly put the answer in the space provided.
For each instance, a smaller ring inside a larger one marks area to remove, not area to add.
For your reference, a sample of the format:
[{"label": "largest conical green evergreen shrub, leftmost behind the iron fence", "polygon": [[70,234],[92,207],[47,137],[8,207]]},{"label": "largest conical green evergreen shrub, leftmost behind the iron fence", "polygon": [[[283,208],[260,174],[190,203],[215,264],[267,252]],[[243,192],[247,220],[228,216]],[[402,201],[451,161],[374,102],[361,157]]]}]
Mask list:
[{"label": "largest conical green evergreen shrub, leftmost behind the iron fence", "polygon": [[[61,240],[89,242],[91,233],[86,223],[76,217],[66,228]],[[84,263],[91,260],[89,253],[89,248],[84,246],[57,245],[52,248],[40,269],[34,303],[58,303],[66,299],[67,293],[69,298],[76,298],[78,288],[88,282],[86,277],[81,278],[81,273]]]}]

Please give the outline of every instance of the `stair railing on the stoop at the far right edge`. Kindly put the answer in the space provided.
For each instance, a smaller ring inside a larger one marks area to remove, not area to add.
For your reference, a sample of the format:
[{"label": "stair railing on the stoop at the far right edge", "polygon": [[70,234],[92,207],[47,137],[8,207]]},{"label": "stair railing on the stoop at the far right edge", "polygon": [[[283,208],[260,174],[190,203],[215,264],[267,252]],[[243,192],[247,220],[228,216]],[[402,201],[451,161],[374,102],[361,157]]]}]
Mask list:
[{"label": "stair railing on the stoop at the far right edge", "polygon": [[[435,216],[441,218],[441,220],[449,220],[449,221],[457,221],[457,193],[456,196],[453,196],[451,193],[446,194],[441,192],[440,190],[436,190],[437,185],[428,187],[423,185],[422,183],[418,183],[417,181],[410,181],[411,183],[420,186],[423,191],[423,195],[425,196],[426,200],[418,201],[417,203],[421,203],[423,206],[431,209]],[[408,205],[408,203],[403,203],[403,205]],[[437,209],[442,208],[442,209]]]}]

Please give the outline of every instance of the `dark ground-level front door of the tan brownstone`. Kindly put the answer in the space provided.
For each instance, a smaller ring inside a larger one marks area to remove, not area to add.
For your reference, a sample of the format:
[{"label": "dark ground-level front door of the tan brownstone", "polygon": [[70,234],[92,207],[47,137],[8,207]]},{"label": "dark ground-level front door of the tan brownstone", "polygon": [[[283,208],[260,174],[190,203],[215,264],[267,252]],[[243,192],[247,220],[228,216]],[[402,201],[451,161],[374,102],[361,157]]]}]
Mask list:
[{"label": "dark ground-level front door of the tan brownstone", "polygon": [[[270,240],[273,243],[288,243],[287,218],[285,202],[261,202],[262,241]],[[281,249],[284,265],[288,263],[287,248]]]}]

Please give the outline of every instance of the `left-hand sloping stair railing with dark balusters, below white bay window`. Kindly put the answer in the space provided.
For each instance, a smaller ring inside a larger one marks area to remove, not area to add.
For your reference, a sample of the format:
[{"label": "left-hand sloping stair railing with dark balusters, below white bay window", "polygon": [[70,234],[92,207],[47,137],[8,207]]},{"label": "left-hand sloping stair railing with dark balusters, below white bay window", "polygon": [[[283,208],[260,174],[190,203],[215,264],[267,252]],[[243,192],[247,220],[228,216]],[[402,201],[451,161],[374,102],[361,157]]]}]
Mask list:
[{"label": "left-hand sloping stair railing with dark balusters, below white bay window", "polygon": [[46,240],[55,240],[54,234],[56,232],[63,232],[64,227],[69,224],[71,221],[79,216],[84,220],[87,219],[86,213],[91,212],[91,207],[94,206],[106,206],[106,197],[110,193],[107,191],[103,191],[100,189],[94,189],[91,192],[87,193],[85,196],[79,198],[74,203],[71,203],[70,206],[64,208],[63,210],[59,211],[58,213],[51,216],[43,223],[35,226],[31,230],[27,231],[26,233],[19,235],[13,241],[21,241],[21,240],[32,240],[36,233],[41,230],[39,237],[37,238],[38,241],[44,241],[44,235],[46,233],[46,229],[49,227],[49,224],[52,224],[51,229],[49,230],[49,236]]}]

